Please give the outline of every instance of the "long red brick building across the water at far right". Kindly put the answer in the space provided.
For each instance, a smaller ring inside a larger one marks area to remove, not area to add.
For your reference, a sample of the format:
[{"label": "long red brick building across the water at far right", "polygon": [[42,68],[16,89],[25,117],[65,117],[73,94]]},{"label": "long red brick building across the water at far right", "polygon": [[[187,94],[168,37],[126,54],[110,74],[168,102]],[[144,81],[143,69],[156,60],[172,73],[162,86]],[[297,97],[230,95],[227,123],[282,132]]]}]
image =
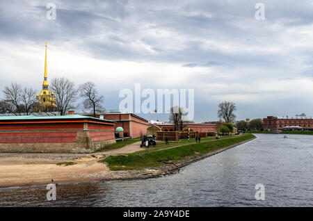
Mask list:
[{"label": "long red brick building across the water at far right", "polygon": [[312,117],[278,118],[268,116],[263,119],[263,129],[266,131],[283,129],[313,130],[313,119]]}]

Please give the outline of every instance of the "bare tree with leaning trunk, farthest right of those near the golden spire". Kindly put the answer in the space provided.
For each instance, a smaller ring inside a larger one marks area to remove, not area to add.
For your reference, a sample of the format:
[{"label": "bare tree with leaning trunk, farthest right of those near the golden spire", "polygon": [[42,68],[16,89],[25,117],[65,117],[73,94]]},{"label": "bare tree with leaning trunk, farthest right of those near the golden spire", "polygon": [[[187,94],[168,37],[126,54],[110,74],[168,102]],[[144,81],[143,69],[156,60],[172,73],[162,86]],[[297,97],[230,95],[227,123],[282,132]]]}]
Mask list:
[{"label": "bare tree with leaning trunk, farthest right of those near the golden spire", "polygon": [[84,98],[83,100],[83,107],[87,109],[93,110],[93,117],[95,117],[96,111],[99,111],[103,108],[103,96],[98,95],[98,92],[95,88],[95,83],[87,82],[83,83],[79,86],[79,91],[81,97]]}]

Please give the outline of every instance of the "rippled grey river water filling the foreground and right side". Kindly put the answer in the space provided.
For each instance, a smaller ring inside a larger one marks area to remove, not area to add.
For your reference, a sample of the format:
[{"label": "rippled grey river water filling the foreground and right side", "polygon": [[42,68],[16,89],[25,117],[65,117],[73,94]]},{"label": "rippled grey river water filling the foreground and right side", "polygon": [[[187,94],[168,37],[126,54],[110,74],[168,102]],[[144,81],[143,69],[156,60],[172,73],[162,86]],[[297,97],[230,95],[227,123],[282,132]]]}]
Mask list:
[{"label": "rippled grey river water filling the foreground and right side", "polygon": [[[313,206],[313,136],[257,139],[157,179],[0,189],[0,206]],[[264,201],[255,185],[264,185]]]}]

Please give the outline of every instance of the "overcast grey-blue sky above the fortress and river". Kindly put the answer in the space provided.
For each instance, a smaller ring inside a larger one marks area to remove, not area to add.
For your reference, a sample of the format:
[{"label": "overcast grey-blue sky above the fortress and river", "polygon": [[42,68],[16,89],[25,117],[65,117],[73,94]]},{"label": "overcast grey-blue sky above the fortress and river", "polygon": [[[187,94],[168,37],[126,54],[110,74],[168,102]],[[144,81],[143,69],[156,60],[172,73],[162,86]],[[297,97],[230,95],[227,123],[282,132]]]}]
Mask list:
[{"label": "overcast grey-blue sky above the fortress and river", "polygon": [[221,101],[234,101],[237,120],[313,115],[312,1],[1,0],[0,30],[1,90],[17,82],[40,92],[47,40],[48,78],[95,82],[106,109],[141,83],[194,89],[195,122],[217,120]]}]

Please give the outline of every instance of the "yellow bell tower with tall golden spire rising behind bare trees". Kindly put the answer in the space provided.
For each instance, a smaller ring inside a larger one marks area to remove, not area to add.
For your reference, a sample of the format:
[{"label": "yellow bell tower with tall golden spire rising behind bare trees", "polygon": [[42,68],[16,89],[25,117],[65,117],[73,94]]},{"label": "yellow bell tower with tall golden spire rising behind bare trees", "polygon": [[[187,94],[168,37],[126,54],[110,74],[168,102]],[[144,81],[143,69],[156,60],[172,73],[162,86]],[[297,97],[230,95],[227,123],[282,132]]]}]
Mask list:
[{"label": "yellow bell tower with tall golden spire rising behind bare trees", "polygon": [[[44,81],[42,83],[42,90],[40,95],[37,95],[37,99],[40,102],[40,105],[45,110],[54,109],[56,106],[56,99],[54,99],[54,92],[49,92],[48,88],[48,74],[47,74],[47,42],[46,42],[46,53],[45,53],[45,74],[44,74]],[[48,111],[48,110],[47,110]]]}]

